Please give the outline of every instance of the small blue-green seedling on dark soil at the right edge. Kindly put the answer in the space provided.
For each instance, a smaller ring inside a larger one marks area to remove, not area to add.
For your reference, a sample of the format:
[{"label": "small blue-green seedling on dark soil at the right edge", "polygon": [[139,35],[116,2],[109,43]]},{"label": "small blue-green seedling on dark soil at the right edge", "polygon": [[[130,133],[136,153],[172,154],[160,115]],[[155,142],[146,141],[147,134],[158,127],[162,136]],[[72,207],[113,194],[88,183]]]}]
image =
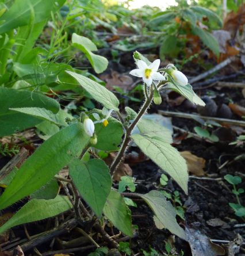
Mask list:
[{"label": "small blue-green seedling on dark soil at the right edge", "polygon": [[241,204],[239,195],[244,193],[244,189],[236,188],[236,185],[242,183],[242,179],[239,176],[232,176],[230,174],[227,174],[224,176],[224,179],[229,182],[233,186],[232,193],[236,196],[236,201],[238,204],[233,204],[232,202],[229,202],[229,206],[235,211],[235,215],[238,217],[242,217],[244,219],[245,217],[245,207]]}]

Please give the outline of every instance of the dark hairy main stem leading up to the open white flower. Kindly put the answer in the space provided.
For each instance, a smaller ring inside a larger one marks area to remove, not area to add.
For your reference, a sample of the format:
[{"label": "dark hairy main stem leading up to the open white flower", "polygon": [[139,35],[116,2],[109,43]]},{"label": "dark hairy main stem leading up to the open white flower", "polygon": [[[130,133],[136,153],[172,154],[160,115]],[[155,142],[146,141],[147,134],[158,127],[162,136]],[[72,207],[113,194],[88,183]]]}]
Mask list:
[{"label": "dark hairy main stem leading up to the open white flower", "polygon": [[133,123],[131,125],[129,125],[128,129],[126,130],[124,141],[120,148],[120,151],[118,152],[116,158],[114,159],[112,165],[110,166],[110,173],[112,174],[112,176],[114,175],[118,165],[120,164],[121,160],[124,157],[124,152],[127,150],[128,143],[131,140],[130,136],[133,131],[133,128],[135,128],[136,124],[139,122],[139,120],[141,119],[143,114],[146,112],[147,108],[150,106],[152,98],[153,98],[153,89],[151,89],[150,95],[148,95],[148,97],[146,98],[146,101],[144,102],[139,113],[135,117],[135,120],[133,120]]}]

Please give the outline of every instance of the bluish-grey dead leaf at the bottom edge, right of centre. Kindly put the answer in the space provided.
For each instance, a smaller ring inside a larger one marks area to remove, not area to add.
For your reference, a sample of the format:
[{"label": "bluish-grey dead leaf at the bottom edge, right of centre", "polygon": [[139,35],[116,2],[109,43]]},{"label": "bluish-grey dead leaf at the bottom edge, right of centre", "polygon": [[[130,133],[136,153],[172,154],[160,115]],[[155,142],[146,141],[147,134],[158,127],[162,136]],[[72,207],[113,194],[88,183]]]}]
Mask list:
[{"label": "bluish-grey dead leaf at the bottom edge, right of centre", "polygon": [[186,227],[185,234],[193,256],[225,255],[223,247],[210,242],[208,236],[203,235],[199,230]]}]

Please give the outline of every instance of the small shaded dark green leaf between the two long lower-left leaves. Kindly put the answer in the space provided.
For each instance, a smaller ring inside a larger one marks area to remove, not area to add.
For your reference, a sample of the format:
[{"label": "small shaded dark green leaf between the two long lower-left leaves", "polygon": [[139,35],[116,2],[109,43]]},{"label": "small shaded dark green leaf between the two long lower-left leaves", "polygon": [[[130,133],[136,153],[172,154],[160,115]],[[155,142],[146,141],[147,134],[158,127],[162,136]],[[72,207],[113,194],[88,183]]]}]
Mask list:
[{"label": "small shaded dark green leaf between the two long lower-left leaves", "polygon": [[51,179],[47,184],[41,187],[39,190],[35,191],[30,195],[31,198],[36,199],[53,199],[59,193],[59,185],[56,179]]}]

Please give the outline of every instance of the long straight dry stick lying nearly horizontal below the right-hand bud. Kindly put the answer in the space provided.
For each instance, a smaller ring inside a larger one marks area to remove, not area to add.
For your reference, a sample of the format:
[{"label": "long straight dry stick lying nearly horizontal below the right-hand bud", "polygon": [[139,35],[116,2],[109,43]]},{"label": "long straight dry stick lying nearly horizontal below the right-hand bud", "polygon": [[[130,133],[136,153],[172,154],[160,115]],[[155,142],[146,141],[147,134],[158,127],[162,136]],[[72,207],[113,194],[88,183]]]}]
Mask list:
[{"label": "long straight dry stick lying nearly horizontal below the right-hand bud", "polygon": [[225,123],[225,124],[232,124],[232,125],[239,125],[241,127],[245,127],[245,121],[235,120],[235,119],[223,119],[219,117],[210,117],[210,116],[200,116],[199,114],[189,114],[189,113],[182,113],[182,112],[172,112],[172,111],[164,111],[159,110],[159,114],[162,116],[172,116],[172,117],[182,117],[186,119],[204,119],[204,120],[213,120],[218,123]]}]

